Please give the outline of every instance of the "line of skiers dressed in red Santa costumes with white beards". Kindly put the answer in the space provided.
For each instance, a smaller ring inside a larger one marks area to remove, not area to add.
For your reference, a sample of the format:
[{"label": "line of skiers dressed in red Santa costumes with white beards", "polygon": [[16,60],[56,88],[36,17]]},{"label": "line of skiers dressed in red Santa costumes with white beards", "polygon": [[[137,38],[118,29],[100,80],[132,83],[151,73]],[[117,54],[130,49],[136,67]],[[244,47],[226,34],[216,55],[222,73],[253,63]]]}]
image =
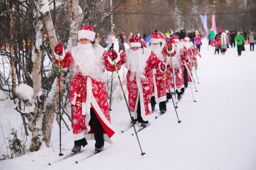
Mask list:
[{"label": "line of skiers dressed in red Santa costumes with white beards", "polygon": [[65,52],[62,44],[54,49],[55,62],[62,68],[74,71],[71,82],[70,102],[73,108],[74,153],[95,139],[95,153],[104,149],[104,141],[114,143],[116,131],[110,123],[107,90],[104,71],[118,71],[125,65],[127,72],[128,105],[132,124],[137,121],[141,127],[148,126],[149,116],[159,104],[160,113],[166,112],[166,101],[174,93],[181,99],[193,67],[197,68],[197,52],[189,37],[179,40],[177,35],[168,41],[153,32],[146,48],[140,38],[129,38],[129,49],[120,55],[110,49],[105,51],[94,41],[95,32],[91,26],[78,31],[79,43]]}]

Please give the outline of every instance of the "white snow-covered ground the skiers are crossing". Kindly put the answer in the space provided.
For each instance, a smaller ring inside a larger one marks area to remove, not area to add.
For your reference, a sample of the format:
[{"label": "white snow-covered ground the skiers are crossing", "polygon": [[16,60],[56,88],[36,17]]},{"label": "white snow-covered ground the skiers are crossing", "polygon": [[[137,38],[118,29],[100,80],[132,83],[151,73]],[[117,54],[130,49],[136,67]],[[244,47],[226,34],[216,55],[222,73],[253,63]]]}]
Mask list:
[{"label": "white snow-covered ground the skiers are crossing", "polygon": [[[133,129],[121,133],[129,124],[126,104],[121,101],[113,102],[111,113],[120,140],[113,145],[105,143],[104,152],[85,159],[94,149],[94,141],[89,141],[81,154],[58,161],[62,157],[54,124],[52,147],[0,161],[0,169],[256,169],[256,52],[246,45],[241,57],[233,48],[226,55],[213,55],[213,48],[207,51],[207,40],[201,48],[198,92],[193,88],[197,102],[193,102],[189,87],[178,104],[180,124],[171,102],[165,115],[158,119],[154,117],[159,111],[151,115],[151,126],[138,133],[146,155],[140,155]],[[0,104],[2,120],[10,116],[21,119],[10,104]],[[65,156],[73,147],[73,138],[71,131],[63,128],[62,132]],[[0,140],[2,143],[2,137]]]}]

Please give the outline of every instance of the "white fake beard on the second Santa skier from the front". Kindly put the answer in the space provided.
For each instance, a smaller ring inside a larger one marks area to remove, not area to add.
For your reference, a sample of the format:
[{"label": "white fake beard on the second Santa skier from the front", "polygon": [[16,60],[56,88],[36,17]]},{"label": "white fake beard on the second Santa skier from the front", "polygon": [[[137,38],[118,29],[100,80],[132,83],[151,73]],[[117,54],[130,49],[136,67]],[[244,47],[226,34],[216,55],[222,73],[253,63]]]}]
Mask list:
[{"label": "white fake beard on the second Santa skier from the front", "polygon": [[126,68],[138,78],[144,79],[144,69],[146,67],[146,61],[144,61],[142,49],[133,51],[132,49],[126,54]]}]

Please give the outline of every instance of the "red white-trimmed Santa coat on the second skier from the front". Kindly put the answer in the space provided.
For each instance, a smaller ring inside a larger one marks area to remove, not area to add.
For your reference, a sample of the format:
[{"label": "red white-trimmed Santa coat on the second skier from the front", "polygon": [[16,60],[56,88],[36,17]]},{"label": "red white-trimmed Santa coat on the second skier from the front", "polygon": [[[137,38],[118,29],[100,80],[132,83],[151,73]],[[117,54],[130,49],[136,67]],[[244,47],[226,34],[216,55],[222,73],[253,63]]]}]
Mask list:
[{"label": "red white-trimmed Santa coat on the second skier from the front", "polygon": [[[118,68],[126,63],[126,57],[132,49],[126,49],[120,55],[119,62],[116,63]],[[141,118],[143,121],[149,121],[147,115],[151,113],[151,94],[153,91],[153,72],[152,69],[158,69],[161,60],[157,58],[151,49],[144,48],[143,60],[146,61],[146,66],[144,68],[143,78],[134,75],[129,68],[126,78],[127,78],[127,90],[128,90],[128,104],[129,110],[134,119],[137,119],[137,108],[138,101],[140,100],[141,106]],[[126,66],[127,67],[127,66]],[[139,99],[140,97],[140,99]]]}]

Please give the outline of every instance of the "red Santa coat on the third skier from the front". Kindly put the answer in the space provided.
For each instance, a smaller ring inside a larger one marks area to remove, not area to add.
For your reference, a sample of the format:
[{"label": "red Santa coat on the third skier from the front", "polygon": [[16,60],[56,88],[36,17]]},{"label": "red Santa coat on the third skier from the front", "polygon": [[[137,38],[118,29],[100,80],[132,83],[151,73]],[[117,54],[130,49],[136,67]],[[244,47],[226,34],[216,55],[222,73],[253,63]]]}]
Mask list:
[{"label": "red Santa coat on the third skier from the front", "polygon": [[[162,62],[166,63],[167,62],[167,57],[166,54],[163,52],[163,49],[166,49],[166,42],[162,41],[162,45],[159,46],[158,51],[152,51],[157,55],[157,58],[159,58]],[[151,49],[152,45],[150,42],[146,44],[146,46]],[[152,96],[155,96],[155,102],[160,103],[163,101],[166,101],[166,78],[165,74],[160,71],[159,69],[153,69],[153,85],[154,85],[154,90]]]}]

